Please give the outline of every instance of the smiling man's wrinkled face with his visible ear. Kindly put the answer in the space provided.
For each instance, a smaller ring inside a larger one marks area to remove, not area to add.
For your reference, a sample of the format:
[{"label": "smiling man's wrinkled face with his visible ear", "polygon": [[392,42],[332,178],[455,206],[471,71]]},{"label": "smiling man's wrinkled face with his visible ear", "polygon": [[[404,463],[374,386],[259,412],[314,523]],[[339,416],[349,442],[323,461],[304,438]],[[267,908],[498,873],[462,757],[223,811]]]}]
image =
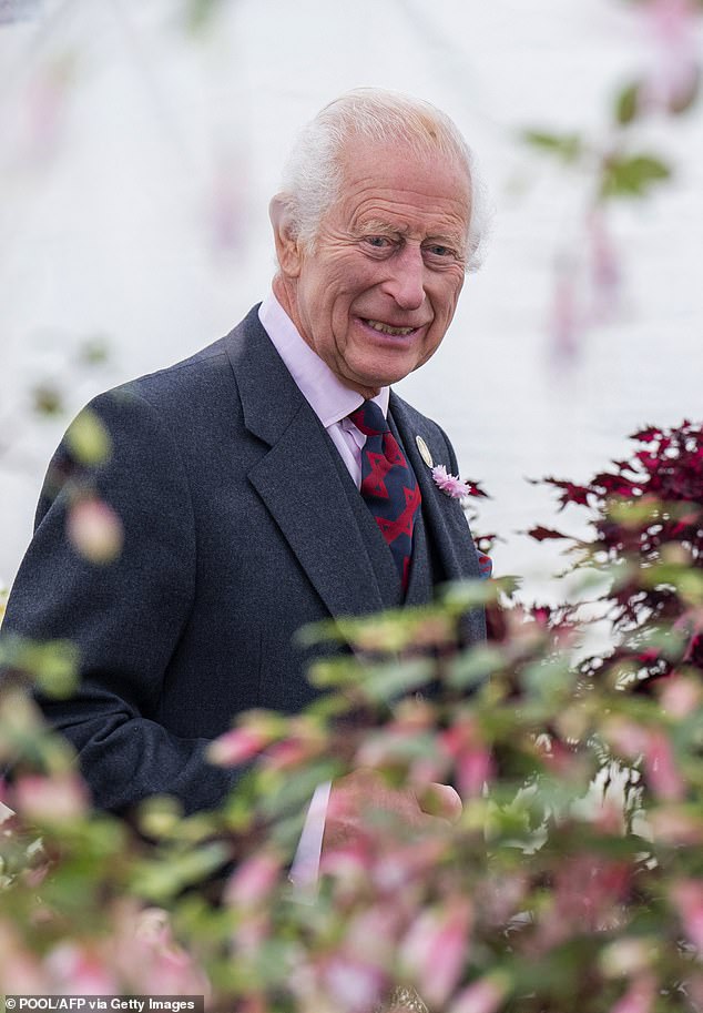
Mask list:
[{"label": "smiling man's wrinkled face with his visible ear", "polygon": [[308,345],[365,397],[437,351],[465,277],[470,192],[439,153],[352,142],[339,201],[312,251],[284,264],[286,308]]}]

